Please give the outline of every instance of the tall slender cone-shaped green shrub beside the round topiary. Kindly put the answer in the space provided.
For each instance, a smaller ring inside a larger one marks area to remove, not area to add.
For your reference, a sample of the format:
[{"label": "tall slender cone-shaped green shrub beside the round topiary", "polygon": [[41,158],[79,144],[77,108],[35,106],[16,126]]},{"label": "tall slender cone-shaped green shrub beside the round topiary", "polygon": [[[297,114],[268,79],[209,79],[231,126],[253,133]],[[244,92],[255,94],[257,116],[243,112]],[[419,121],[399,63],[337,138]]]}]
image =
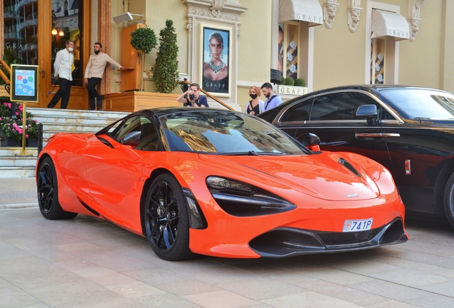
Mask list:
[{"label": "tall slender cone-shaped green shrub beside the round topiary", "polygon": [[159,47],[153,71],[156,90],[171,93],[178,86],[178,45],[173,21],[166,20],[166,27],[159,32]]}]

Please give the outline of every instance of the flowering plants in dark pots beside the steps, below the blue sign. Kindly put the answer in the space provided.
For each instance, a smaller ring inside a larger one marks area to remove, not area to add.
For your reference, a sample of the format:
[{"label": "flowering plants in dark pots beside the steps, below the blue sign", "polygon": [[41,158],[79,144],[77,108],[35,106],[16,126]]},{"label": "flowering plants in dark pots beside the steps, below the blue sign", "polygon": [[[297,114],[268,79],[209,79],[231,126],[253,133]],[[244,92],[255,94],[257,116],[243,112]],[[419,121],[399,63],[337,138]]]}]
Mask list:
[{"label": "flowering plants in dark pots beside the steps, below the blue sign", "polygon": [[[11,102],[7,96],[0,97],[0,135],[1,146],[20,146],[24,121],[22,120],[22,106],[16,110],[16,118],[11,117]],[[38,124],[33,120],[31,113],[26,113],[26,139],[38,138]]]}]

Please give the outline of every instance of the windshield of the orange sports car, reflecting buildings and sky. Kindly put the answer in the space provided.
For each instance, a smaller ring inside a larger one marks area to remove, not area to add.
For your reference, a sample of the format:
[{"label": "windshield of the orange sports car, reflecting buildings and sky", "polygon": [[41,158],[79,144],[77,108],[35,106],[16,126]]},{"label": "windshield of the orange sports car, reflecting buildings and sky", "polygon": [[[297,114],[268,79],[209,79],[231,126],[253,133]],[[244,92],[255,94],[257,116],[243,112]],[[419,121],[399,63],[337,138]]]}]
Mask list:
[{"label": "windshield of the orange sports car, reflecting buildings and sky", "polygon": [[159,118],[169,150],[223,155],[306,154],[302,145],[258,118],[188,111]]}]

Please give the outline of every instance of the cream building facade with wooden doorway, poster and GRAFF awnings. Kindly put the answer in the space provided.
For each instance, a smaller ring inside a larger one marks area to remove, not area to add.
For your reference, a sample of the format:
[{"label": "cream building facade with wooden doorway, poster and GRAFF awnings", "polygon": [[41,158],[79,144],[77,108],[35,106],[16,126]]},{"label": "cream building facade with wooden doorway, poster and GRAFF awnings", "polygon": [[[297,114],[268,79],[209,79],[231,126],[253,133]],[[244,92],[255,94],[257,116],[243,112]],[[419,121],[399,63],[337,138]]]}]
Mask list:
[{"label": "cream building facade with wooden doorway, poster and GRAFF awnings", "polygon": [[[283,77],[305,83],[276,86],[285,99],[358,83],[454,92],[450,0],[4,0],[0,9],[0,52],[7,62],[40,66],[41,107],[53,95],[52,55],[64,48],[62,41],[77,42],[83,74],[96,41],[119,61],[121,45],[128,43],[121,41],[121,29],[143,23],[158,34],[166,19],[173,20],[178,36],[181,79],[199,83],[238,110],[249,101],[250,86]],[[114,21],[127,12],[132,20]],[[209,48],[213,36],[222,45],[216,55]],[[222,76],[215,56],[227,68]],[[153,89],[155,59],[156,50],[146,55],[146,91]],[[121,73],[106,71],[101,91],[119,92]],[[87,109],[87,101],[76,83],[69,108]]]}]

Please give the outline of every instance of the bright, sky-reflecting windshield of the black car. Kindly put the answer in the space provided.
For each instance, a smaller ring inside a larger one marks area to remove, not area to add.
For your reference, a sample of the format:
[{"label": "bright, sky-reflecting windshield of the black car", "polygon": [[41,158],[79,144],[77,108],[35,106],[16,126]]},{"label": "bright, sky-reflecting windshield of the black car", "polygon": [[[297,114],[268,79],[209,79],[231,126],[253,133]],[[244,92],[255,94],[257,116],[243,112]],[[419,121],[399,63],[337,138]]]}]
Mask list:
[{"label": "bright, sky-reflecting windshield of the black car", "polygon": [[408,116],[416,119],[453,120],[454,96],[425,89],[387,89],[380,91]]}]

